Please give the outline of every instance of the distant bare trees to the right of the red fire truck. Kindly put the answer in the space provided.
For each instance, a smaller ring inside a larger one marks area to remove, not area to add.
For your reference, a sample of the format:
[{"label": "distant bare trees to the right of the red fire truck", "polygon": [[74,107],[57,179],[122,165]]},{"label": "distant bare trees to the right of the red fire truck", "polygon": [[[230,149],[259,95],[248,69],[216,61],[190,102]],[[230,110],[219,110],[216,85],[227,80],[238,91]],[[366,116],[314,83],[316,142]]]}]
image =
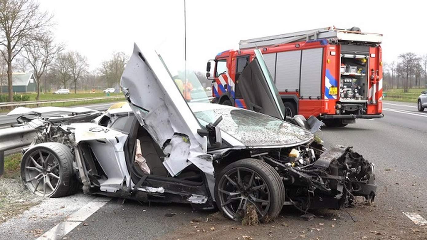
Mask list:
[{"label": "distant bare trees to the right of the red fire truck", "polygon": [[402,53],[398,59],[383,66],[384,89],[427,88],[427,54]]}]

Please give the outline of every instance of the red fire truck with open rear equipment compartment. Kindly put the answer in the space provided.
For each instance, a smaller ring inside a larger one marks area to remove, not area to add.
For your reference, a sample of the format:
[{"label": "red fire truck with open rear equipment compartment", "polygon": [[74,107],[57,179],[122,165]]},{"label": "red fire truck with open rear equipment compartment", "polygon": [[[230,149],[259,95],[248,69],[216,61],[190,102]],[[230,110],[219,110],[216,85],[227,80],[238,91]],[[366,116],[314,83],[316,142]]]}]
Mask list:
[{"label": "red fire truck with open rear equipment compartment", "polygon": [[214,101],[248,108],[239,76],[258,48],[288,116],[313,115],[328,126],[383,117],[381,39],[357,27],[332,26],[241,40],[239,50],[221,52],[208,62]]}]

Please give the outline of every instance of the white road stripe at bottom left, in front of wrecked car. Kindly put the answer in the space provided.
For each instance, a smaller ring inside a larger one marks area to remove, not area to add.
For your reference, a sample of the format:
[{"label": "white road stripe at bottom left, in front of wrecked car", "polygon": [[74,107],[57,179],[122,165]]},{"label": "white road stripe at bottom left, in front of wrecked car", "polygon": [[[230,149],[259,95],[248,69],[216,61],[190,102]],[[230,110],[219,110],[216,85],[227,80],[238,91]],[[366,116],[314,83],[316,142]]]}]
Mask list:
[{"label": "white road stripe at bottom left, in front of wrecked car", "polygon": [[56,240],[61,239],[70,231],[76,228],[80,223],[94,214],[99,208],[102,208],[111,198],[98,197],[88,204],[84,205],[79,210],[71,214],[65,221],[58,223],[56,226],[45,232],[37,238],[37,240]]}]

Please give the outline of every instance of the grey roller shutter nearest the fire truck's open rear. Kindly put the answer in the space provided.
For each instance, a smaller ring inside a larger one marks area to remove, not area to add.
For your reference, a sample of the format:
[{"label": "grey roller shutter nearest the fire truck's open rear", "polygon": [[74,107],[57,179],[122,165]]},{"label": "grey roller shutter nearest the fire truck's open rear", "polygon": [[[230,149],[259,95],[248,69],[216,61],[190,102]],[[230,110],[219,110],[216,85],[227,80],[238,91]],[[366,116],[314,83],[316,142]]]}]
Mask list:
[{"label": "grey roller shutter nearest the fire truck's open rear", "polygon": [[301,97],[316,99],[321,96],[323,48],[302,50]]}]

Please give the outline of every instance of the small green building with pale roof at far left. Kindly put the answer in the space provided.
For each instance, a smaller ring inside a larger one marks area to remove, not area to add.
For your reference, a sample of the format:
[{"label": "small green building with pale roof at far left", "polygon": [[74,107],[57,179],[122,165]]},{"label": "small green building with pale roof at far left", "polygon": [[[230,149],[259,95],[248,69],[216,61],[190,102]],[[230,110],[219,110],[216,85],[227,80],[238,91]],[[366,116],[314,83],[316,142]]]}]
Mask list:
[{"label": "small green building with pale roof at far left", "polygon": [[[14,93],[27,93],[37,91],[37,79],[32,73],[12,73],[12,84]],[[2,92],[7,93],[7,80],[2,86]]]}]

